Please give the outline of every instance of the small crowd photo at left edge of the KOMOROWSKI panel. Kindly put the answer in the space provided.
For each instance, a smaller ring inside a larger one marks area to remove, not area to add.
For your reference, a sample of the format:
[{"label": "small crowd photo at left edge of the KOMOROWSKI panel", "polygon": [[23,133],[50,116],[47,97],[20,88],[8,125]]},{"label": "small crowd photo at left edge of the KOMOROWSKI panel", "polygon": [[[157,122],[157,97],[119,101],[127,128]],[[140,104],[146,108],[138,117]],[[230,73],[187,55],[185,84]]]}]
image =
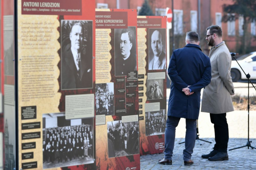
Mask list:
[{"label": "small crowd photo at left edge of the KOMOROWSKI panel", "polygon": [[114,83],[95,86],[96,115],[114,115]]}]

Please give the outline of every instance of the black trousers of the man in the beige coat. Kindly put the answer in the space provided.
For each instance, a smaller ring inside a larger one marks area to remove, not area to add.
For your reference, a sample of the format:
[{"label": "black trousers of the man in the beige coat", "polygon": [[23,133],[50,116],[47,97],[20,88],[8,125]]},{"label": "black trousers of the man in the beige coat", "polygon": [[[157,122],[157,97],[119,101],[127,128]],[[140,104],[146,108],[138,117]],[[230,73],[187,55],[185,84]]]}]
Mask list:
[{"label": "black trousers of the man in the beige coat", "polygon": [[210,113],[211,122],[214,124],[215,133],[215,150],[220,152],[227,152],[228,148],[228,123],[226,113],[212,114]]}]

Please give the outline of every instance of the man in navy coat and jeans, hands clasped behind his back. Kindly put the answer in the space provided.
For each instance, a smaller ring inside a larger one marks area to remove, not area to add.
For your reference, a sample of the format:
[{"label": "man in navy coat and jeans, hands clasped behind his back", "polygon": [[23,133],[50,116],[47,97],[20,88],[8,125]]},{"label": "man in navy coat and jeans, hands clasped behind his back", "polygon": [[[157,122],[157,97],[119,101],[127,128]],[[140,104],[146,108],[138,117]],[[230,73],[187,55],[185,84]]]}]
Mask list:
[{"label": "man in navy coat and jeans, hands clasped behind his back", "polygon": [[[211,82],[211,62],[199,47],[196,32],[186,34],[186,46],[171,56],[168,75],[172,81],[165,130],[165,157],[159,164],[172,165],[175,128],[180,118],[186,119],[186,138],[183,159],[191,165],[196,142],[196,120],[199,116],[201,89]],[[187,88],[188,87],[188,88]]]}]

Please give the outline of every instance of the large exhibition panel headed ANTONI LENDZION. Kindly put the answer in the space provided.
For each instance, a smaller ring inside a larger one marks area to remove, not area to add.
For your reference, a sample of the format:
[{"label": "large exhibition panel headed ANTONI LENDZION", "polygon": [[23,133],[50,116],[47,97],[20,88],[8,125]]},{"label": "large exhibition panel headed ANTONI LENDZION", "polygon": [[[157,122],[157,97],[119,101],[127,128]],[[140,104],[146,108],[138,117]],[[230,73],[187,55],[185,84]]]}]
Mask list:
[{"label": "large exhibition panel headed ANTONI LENDZION", "polygon": [[18,169],[95,169],[95,9],[17,1]]}]

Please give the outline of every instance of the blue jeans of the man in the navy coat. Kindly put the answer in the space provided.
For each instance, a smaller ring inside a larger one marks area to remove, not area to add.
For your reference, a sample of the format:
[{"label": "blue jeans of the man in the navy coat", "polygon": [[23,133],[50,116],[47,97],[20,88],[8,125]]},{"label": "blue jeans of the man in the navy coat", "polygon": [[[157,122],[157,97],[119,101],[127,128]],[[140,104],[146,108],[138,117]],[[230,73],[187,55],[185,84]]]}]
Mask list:
[{"label": "blue jeans of the man in the navy coat", "polygon": [[[165,129],[165,159],[172,160],[175,130],[181,118],[168,116]],[[186,119],[186,137],[185,149],[183,150],[183,160],[188,161],[191,159],[191,154],[196,143],[196,119]]]}]

